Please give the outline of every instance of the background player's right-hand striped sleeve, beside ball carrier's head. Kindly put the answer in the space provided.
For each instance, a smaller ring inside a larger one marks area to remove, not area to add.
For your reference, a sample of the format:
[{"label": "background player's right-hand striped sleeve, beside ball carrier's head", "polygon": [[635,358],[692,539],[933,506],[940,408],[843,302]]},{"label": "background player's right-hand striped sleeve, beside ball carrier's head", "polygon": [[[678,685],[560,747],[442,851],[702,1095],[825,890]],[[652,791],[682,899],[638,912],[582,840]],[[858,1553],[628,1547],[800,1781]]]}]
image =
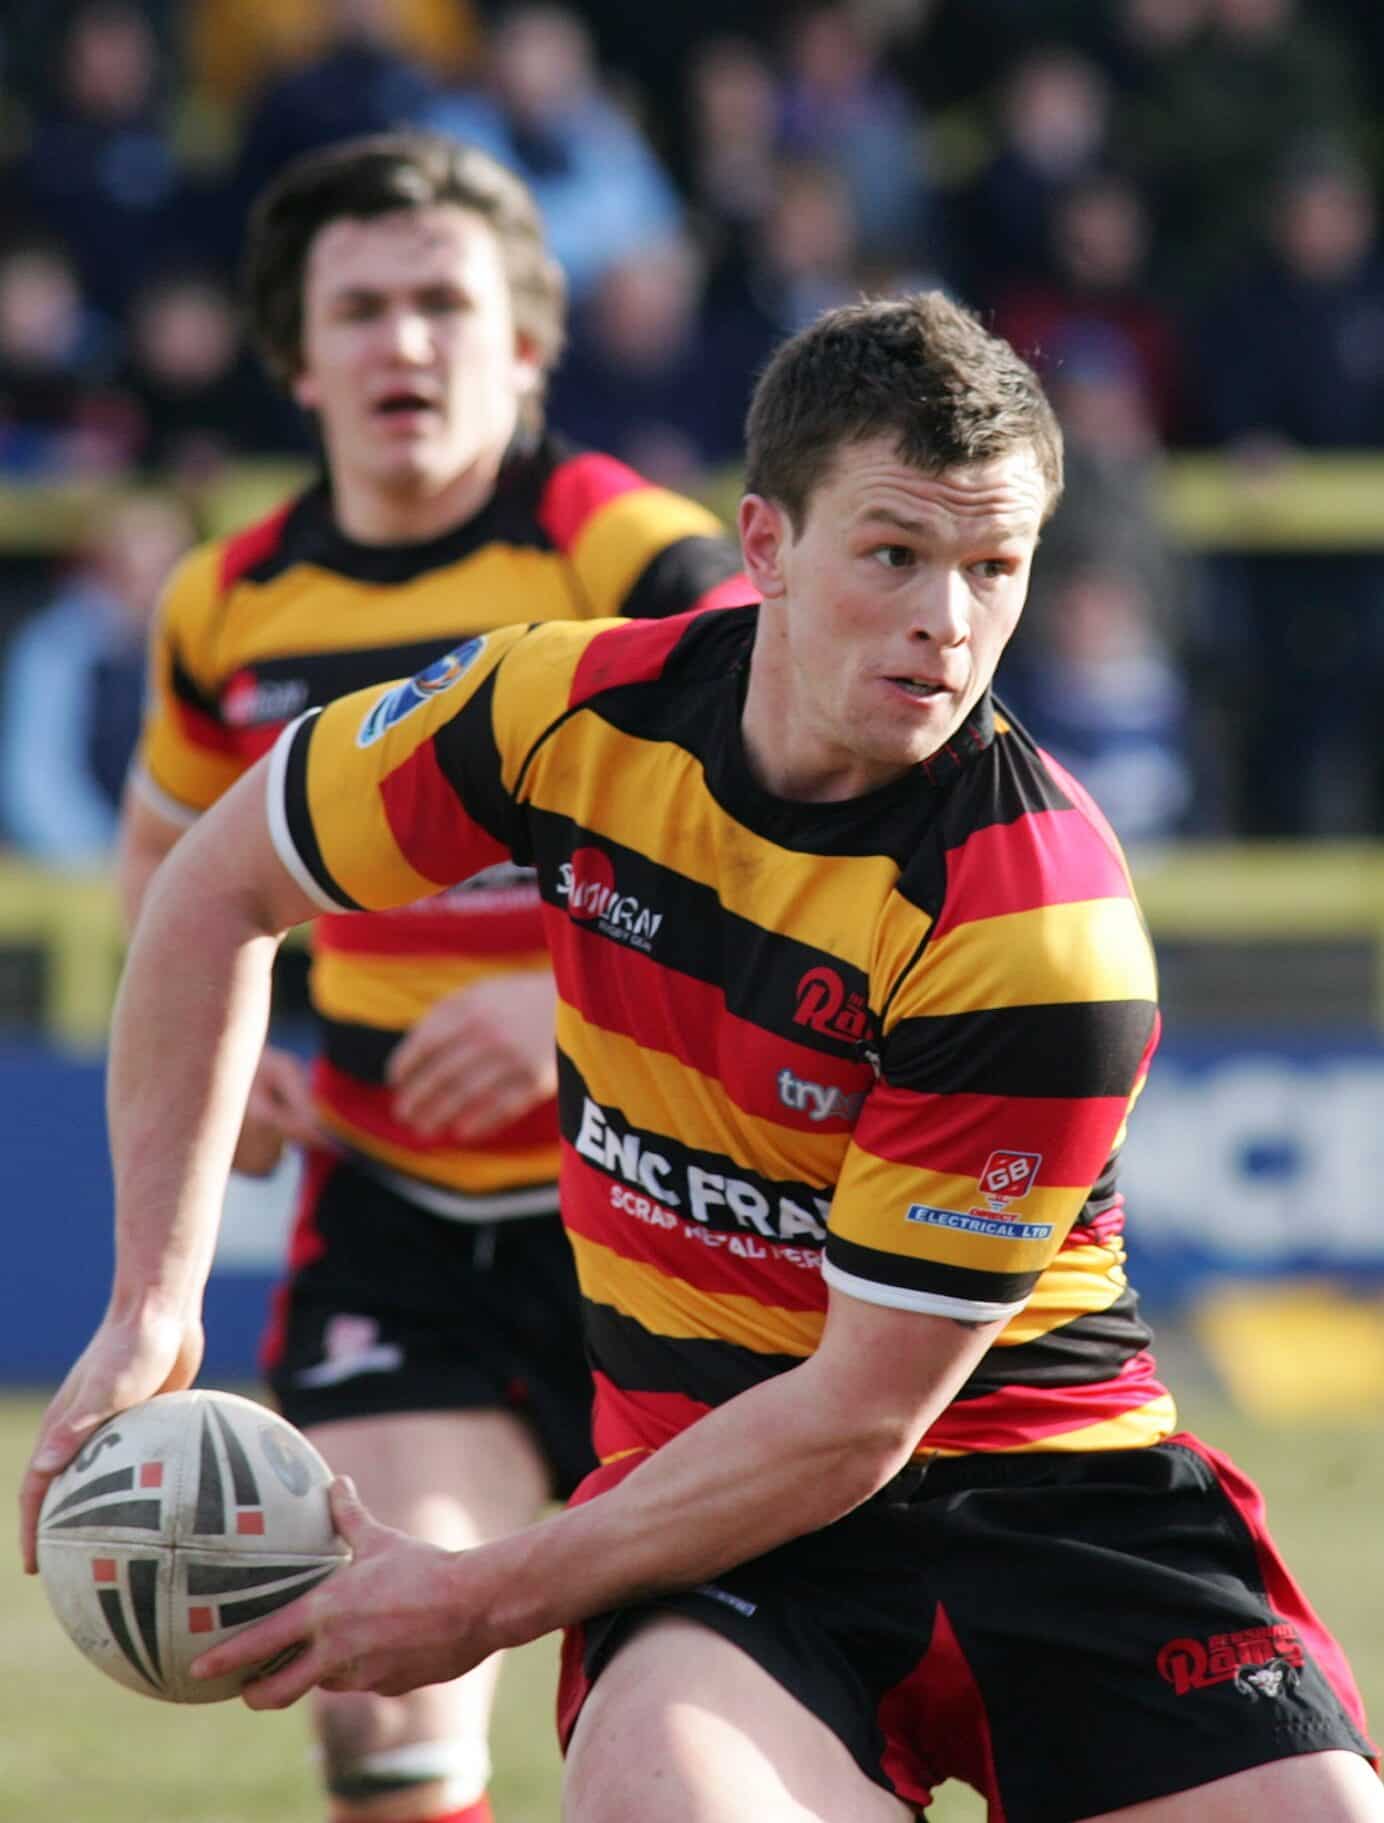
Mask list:
[{"label": "background player's right-hand striped sleeve, beside ball carrier's head", "polygon": [[667,620],[755,600],[720,520],[611,456],[565,463],[543,523],[576,572],[587,618]]}]

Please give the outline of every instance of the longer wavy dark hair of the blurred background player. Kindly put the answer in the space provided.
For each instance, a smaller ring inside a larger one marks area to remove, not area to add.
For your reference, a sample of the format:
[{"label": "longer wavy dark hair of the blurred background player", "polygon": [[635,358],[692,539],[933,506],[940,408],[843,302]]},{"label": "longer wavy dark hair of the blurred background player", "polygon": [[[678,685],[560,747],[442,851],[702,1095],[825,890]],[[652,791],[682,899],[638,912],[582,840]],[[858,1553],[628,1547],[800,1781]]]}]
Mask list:
[{"label": "longer wavy dark hair of the blurred background player", "polygon": [[[452,202],[491,224],[514,324],[549,374],[562,354],[567,286],[529,188],[476,146],[445,133],[372,133],[294,159],[255,201],[244,252],[250,330],[275,379],[303,365],[303,275],[319,230]],[[542,414],[542,394],[532,403]]]}]

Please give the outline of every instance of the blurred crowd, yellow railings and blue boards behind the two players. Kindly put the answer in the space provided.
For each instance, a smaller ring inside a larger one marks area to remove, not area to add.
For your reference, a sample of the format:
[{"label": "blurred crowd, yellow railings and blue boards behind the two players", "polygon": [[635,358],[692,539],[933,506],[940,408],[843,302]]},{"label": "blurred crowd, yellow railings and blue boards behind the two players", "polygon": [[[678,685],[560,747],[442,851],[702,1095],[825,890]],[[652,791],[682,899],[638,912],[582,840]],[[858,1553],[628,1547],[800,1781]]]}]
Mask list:
[{"label": "blurred crowd, yellow railings and blue boards behind the two players", "polygon": [[[4,0],[0,1384],[51,1385],[108,1283],[108,862],[148,614],[314,459],[241,335],[246,206],[310,146],[421,122],[543,206],[574,301],[554,425],[728,514],[753,376],[826,304],[939,284],[1039,366],[1070,481],[999,691],[1120,829],[1162,955],[1134,1274],[1193,1402],[1327,1438],[1317,1504],[1362,1500],[1380,93],[1379,0]],[[290,950],[290,1039],[301,975]],[[290,1196],[232,1189],[210,1380],[252,1378]]]}]

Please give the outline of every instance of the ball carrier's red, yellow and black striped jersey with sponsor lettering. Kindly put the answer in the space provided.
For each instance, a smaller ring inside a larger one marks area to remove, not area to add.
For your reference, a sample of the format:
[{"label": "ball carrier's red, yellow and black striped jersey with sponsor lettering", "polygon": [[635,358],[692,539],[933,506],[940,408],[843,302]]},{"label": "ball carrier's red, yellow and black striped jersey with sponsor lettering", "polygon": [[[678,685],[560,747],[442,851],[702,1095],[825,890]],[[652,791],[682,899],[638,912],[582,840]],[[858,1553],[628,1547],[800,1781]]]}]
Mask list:
[{"label": "ball carrier's red, yellow and black striped jersey with sponsor lettering", "polygon": [[932,1449],[1165,1437],[1114,1189],[1158,1028],[1116,840],[988,698],[868,797],[768,795],[755,613],[507,629],[305,718],[279,853],[323,906],[536,866],[607,1462],[810,1354],[824,1278],[1008,1318]]}]

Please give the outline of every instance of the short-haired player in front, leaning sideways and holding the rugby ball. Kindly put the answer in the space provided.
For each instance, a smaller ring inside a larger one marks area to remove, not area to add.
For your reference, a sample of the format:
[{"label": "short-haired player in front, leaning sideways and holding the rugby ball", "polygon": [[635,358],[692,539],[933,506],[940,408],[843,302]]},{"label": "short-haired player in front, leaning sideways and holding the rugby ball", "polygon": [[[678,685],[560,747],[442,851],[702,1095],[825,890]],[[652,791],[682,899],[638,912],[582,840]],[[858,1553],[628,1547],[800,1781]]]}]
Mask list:
[{"label": "short-haired player in front, leaning sideways and holding the rugby ball", "polygon": [[1123,1271],[1152,953],[990,695],[1061,476],[1038,379],[945,297],[828,312],[749,412],[759,607],[467,642],[436,693],[305,715],[170,862],[111,1046],[122,1282],[197,1305],[272,935],[503,850],[596,1373],[602,1466],[516,1537],[445,1553],[339,1488],[354,1562],[201,1661],[303,1643],[250,1706],[565,1626],[569,1823],[906,1823],[946,1777],[1007,1823],[1384,1818]]}]

